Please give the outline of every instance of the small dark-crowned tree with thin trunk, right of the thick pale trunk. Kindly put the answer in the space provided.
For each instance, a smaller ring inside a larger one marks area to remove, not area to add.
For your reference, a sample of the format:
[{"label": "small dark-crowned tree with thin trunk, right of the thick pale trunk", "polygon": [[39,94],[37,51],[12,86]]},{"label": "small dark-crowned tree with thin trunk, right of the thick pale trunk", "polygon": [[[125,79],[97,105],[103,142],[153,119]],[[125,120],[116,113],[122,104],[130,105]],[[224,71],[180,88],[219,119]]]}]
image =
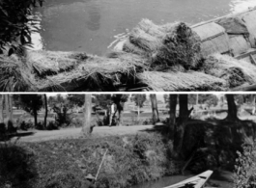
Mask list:
[{"label": "small dark-crowned tree with thin trunk, right of the thick pale trunk", "polygon": [[128,101],[128,95],[129,94],[113,94],[111,97],[112,101],[116,104],[117,107],[119,126],[123,124],[122,112],[124,111],[125,102]]}]

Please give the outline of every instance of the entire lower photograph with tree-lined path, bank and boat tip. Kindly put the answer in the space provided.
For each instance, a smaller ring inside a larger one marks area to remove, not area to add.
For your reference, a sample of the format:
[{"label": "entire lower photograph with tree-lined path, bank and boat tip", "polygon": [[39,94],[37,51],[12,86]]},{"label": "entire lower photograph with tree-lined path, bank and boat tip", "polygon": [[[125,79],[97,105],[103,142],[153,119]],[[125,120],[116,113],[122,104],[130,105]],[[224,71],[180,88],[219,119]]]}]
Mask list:
[{"label": "entire lower photograph with tree-lined path, bank and boat tip", "polygon": [[0,94],[0,187],[255,187],[255,99]]}]

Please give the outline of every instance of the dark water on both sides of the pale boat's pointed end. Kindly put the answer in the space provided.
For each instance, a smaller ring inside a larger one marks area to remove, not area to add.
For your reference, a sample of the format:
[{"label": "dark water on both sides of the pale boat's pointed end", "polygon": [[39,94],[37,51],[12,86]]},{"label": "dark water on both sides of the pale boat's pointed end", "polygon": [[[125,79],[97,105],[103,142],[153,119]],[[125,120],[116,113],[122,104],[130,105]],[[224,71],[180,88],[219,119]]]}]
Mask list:
[{"label": "dark water on both sides of the pale boat's pointed end", "polygon": [[[213,172],[213,175],[208,181],[209,186],[213,187],[222,187],[222,188],[232,188],[233,183],[232,181],[232,173],[227,171],[221,171],[221,172]],[[169,185],[173,185],[175,183],[178,183],[180,181],[183,181],[191,176],[194,176],[192,174],[189,174],[186,172],[185,175],[172,175],[172,176],[165,176],[162,177],[156,181],[149,181],[145,183],[141,183],[135,186],[132,186],[130,188],[162,188]]]}]

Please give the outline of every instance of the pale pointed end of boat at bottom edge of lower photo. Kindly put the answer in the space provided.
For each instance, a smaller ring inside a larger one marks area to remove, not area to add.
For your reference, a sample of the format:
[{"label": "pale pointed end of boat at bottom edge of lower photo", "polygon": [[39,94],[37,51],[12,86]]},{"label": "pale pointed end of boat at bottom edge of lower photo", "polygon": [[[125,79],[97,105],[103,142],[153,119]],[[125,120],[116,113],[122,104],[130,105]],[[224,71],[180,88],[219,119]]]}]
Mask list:
[{"label": "pale pointed end of boat at bottom edge of lower photo", "polygon": [[202,188],[206,185],[206,182],[209,180],[211,175],[213,175],[213,171],[209,170],[200,175],[195,175],[193,177],[185,179],[184,181],[163,188]]}]

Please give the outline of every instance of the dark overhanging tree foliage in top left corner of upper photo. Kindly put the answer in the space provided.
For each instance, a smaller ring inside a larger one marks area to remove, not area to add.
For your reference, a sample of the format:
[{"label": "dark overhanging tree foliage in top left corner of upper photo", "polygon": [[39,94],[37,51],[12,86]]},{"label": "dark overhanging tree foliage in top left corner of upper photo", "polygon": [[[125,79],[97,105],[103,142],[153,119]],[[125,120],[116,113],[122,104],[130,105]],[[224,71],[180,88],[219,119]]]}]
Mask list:
[{"label": "dark overhanging tree foliage in top left corner of upper photo", "polygon": [[[33,7],[43,5],[43,0],[0,1],[0,51],[13,42],[9,54],[19,45],[31,44],[31,32],[39,32],[33,23]],[[16,44],[18,43],[18,45]]]}]

